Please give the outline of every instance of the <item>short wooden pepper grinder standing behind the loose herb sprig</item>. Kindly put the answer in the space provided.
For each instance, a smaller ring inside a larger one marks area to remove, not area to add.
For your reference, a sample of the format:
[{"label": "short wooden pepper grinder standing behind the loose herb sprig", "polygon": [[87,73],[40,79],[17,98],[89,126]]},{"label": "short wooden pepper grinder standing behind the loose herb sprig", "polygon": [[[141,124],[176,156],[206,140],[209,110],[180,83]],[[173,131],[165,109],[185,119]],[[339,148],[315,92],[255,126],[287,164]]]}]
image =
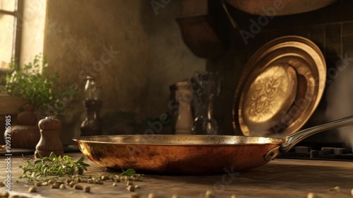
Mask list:
[{"label": "short wooden pepper grinder standing behind the loose herb sprig", "polygon": [[64,156],[64,146],[59,139],[60,120],[45,117],[40,120],[38,127],[40,128],[40,141],[35,146],[35,158],[40,158],[40,155],[49,156],[52,152],[56,156]]}]

